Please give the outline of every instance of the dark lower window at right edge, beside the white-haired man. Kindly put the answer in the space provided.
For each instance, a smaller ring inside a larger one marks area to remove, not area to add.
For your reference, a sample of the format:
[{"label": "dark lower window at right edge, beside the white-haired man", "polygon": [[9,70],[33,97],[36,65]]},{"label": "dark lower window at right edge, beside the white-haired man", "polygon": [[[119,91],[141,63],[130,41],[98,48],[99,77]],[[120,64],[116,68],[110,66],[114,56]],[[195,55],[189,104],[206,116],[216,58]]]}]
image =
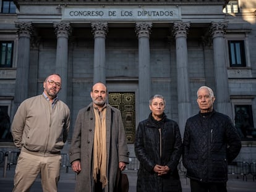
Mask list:
[{"label": "dark lower window at right edge, beside the white-haired man", "polygon": [[256,138],[251,105],[235,105],[235,124],[241,138]]}]

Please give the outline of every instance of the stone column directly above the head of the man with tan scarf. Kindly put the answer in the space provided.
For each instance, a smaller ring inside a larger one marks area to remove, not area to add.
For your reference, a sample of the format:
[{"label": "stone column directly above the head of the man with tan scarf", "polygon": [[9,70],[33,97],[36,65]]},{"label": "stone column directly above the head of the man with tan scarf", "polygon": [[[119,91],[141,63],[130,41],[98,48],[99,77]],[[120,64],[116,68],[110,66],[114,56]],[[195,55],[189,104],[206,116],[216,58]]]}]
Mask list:
[{"label": "stone column directly above the head of the man with tan scarf", "polygon": [[105,39],[108,33],[108,22],[92,22],[94,35],[93,83],[106,83],[106,48]]}]

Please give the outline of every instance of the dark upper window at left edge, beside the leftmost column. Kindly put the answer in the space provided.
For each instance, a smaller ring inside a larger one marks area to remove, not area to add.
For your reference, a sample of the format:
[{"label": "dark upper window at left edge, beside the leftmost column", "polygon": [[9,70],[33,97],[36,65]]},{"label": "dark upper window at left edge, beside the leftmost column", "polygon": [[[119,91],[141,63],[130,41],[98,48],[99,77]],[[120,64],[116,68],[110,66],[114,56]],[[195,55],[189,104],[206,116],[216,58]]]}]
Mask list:
[{"label": "dark upper window at left edge, beside the leftmost column", "polygon": [[12,67],[12,41],[0,41],[0,67]]}]

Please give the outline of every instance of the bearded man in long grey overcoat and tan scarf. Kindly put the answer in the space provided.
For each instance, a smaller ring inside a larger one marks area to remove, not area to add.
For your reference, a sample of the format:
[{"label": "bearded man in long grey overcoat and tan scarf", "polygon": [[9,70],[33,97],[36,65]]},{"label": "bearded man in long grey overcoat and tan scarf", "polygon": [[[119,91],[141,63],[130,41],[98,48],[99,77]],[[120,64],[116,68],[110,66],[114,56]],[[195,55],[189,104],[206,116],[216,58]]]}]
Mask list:
[{"label": "bearded man in long grey overcoat and tan scarf", "polygon": [[96,83],[92,102],[79,111],[69,149],[77,173],[75,191],[116,190],[118,169],[126,168],[129,152],[121,112],[106,103],[106,85]]}]

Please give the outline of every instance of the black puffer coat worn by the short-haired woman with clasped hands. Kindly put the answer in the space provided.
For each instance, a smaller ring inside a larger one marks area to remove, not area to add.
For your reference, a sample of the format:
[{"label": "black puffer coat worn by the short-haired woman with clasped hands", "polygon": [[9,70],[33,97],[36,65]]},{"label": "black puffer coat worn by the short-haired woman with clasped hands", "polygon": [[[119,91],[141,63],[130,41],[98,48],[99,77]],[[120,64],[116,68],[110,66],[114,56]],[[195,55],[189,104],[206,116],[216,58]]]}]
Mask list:
[{"label": "black puffer coat worn by the short-haired woman with clasped hands", "polygon": [[[166,115],[158,122],[150,114],[137,127],[134,148],[140,161],[137,192],[181,191],[177,165],[182,154],[182,140],[176,122],[167,119]],[[153,171],[156,164],[168,165],[169,173],[158,176]]]}]

